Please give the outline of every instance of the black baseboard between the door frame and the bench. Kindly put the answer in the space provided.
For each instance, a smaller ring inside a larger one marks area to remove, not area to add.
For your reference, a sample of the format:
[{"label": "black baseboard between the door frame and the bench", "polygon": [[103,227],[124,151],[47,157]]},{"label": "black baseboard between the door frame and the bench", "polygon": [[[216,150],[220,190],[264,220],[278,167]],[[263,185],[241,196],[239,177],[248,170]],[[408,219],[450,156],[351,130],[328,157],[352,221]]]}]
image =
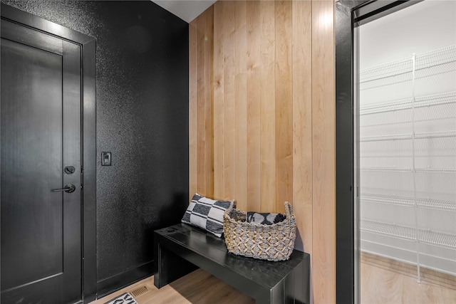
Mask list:
[{"label": "black baseboard between the door frame and the bench", "polygon": [[105,295],[141,281],[143,278],[153,276],[153,274],[154,261],[152,260],[110,278],[105,278],[97,282],[97,298],[103,298]]}]

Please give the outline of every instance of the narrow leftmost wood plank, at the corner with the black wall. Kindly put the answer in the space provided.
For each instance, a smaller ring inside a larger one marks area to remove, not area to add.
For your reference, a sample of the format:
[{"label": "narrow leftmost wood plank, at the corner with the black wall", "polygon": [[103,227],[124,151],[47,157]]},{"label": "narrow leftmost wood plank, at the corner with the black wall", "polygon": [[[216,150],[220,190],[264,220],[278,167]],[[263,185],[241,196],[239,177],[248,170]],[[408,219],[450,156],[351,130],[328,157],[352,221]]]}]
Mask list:
[{"label": "narrow leftmost wood plank, at the corner with the black wall", "polygon": [[189,24],[189,201],[197,192],[197,22]]}]

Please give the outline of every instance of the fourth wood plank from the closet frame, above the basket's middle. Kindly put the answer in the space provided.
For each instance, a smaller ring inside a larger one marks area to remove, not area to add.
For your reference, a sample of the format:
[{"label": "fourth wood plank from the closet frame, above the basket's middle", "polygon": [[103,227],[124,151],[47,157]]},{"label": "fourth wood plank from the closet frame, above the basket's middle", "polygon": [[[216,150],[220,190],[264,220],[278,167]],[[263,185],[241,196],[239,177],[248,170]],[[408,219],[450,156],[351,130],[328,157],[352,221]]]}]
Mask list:
[{"label": "fourth wood plank from the closet frame, above the basket's middle", "polygon": [[275,4],[260,1],[260,199],[261,211],[276,211]]}]

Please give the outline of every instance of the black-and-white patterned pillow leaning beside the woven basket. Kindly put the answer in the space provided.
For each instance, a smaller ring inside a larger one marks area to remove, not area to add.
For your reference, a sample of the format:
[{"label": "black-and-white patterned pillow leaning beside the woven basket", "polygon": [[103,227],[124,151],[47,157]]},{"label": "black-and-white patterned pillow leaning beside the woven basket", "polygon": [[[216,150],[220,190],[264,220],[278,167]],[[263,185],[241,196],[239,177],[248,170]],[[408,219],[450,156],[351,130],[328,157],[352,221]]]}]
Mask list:
[{"label": "black-and-white patterned pillow leaning beside the woven basket", "polygon": [[215,201],[195,194],[182,217],[182,223],[197,226],[220,237],[223,233],[223,214],[234,201]]}]

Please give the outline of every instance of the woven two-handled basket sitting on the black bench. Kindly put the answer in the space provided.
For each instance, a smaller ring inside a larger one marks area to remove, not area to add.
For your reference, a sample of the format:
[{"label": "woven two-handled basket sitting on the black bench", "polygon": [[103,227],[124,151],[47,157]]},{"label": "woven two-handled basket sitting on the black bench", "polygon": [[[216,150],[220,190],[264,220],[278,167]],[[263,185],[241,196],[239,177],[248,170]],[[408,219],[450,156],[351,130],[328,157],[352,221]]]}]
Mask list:
[{"label": "woven two-handled basket sitting on the black bench", "polygon": [[285,220],[272,225],[248,223],[246,212],[229,206],[223,216],[229,253],[268,261],[288,260],[296,239],[296,219],[290,203],[284,205]]}]

